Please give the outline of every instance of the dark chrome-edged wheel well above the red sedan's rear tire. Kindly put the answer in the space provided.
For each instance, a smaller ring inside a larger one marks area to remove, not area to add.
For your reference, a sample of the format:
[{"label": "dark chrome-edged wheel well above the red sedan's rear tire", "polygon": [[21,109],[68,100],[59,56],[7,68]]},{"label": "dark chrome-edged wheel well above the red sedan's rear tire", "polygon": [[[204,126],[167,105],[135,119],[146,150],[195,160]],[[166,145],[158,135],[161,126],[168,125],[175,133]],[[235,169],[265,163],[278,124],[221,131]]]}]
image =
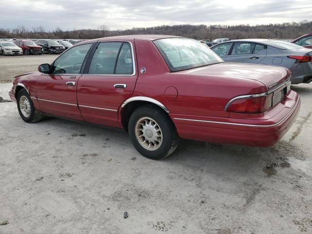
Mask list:
[{"label": "dark chrome-edged wheel well above the red sedan's rear tire", "polygon": [[135,110],[137,110],[137,108],[140,108],[141,106],[145,106],[145,105],[154,106],[157,109],[159,109],[159,110],[163,111],[164,113],[168,114],[160,106],[158,106],[158,105],[156,105],[156,104],[154,104],[152,102],[149,102],[149,101],[137,100],[137,101],[129,102],[127,105],[125,105],[125,107],[122,109],[122,112],[121,112],[121,123],[122,123],[122,126],[123,126],[123,128],[124,128],[124,130],[126,132],[128,132],[128,123],[129,123],[129,119],[130,119],[130,116],[132,115],[132,113]]}]

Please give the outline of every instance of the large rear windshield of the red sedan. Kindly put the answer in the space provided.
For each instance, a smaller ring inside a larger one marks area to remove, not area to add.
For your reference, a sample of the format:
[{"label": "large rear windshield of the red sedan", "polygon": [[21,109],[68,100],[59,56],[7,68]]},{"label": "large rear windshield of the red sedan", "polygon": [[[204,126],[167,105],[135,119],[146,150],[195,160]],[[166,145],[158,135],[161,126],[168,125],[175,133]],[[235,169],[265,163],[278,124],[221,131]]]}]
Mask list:
[{"label": "large rear windshield of the red sedan", "polygon": [[154,43],[172,72],[223,62],[206,44],[194,39],[166,38]]}]

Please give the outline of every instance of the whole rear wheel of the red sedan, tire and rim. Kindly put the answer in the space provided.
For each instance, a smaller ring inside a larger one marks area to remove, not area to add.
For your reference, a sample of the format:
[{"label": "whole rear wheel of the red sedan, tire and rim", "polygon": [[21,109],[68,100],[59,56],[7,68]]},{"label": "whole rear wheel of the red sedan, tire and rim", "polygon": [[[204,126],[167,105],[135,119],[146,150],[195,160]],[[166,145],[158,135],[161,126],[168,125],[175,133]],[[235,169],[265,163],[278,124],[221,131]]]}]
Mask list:
[{"label": "whole rear wheel of the red sedan, tire and rim", "polygon": [[145,105],[131,115],[129,136],[137,151],[151,159],[162,159],[172,154],[179,137],[170,117],[153,105]]}]

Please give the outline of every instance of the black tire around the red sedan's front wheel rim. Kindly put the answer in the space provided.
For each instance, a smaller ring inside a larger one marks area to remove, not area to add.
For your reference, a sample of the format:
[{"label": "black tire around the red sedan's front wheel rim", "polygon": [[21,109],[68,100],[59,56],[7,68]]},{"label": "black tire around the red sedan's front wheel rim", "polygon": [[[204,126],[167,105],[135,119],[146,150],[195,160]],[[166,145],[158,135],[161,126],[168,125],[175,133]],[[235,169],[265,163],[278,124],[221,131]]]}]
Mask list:
[{"label": "black tire around the red sedan's front wheel rim", "polygon": [[[27,98],[28,101],[29,101],[29,104],[30,104],[30,115],[29,115],[29,117],[24,116],[22,114],[22,111],[21,111],[21,108],[20,108],[20,99],[21,98]],[[35,122],[40,121],[44,117],[43,114],[41,114],[38,110],[36,110],[36,108],[34,107],[33,101],[31,100],[28,92],[25,89],[21,89],[20,90],[20,92],[18,93],[16,99],[17,99],[17,104],[18,104],[18,110],[19,110],[19,113],[20,113],[20,117],[25,122],[27,122],[27,123],[35,123]]]}]

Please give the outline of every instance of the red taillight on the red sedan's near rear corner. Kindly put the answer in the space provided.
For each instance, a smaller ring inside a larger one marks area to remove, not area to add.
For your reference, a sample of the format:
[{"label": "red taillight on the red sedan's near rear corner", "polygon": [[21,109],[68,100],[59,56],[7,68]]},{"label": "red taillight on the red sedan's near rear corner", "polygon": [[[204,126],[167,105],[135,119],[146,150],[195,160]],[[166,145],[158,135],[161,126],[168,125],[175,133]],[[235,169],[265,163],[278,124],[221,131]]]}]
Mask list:
[{"label": "red taillight on the red sedan's near rear corner", "polygon": [[237,98],[230,102],[226,111],[235,113],[261,113],[272,107],[273,93],[260,96],[260,97],[249,97],[249,98]]}]

